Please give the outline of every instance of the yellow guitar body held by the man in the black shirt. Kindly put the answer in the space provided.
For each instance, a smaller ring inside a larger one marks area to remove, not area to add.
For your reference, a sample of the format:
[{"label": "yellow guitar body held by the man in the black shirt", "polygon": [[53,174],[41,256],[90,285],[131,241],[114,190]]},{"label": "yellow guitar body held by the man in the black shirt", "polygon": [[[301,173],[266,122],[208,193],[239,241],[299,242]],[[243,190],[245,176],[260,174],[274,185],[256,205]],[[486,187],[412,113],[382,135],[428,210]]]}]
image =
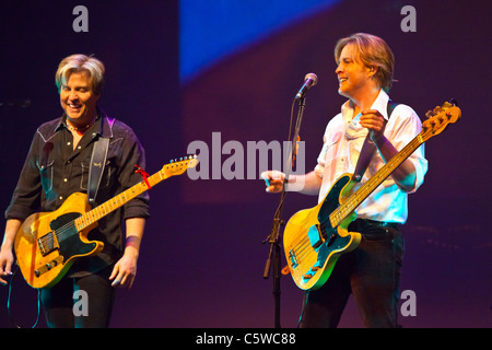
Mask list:
[{"label": "yellow guitar body held by the man in the black shirt", "polygon": [[22,276],[31,287],[55,285],[78,258],[103,249],[102,242],[87,240],[97,222],[81,232],[74,223],[91,209],[86,197],[73,194],[58,210],[32,214],[20,228],[14,250]]}]

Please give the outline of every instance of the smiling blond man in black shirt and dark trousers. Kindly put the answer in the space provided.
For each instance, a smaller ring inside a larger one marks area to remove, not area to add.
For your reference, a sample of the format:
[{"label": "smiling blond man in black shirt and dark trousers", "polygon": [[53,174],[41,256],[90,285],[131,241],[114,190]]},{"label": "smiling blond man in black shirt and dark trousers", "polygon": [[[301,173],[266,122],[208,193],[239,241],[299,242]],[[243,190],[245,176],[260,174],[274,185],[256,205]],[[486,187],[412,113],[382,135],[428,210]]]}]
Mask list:
[{"label": "smiling blond man in black shirt and dark trousers", "polygon": [[[130,127],[109,118],[98,107],[104,70],[102,61],[85,55],[69,56],[58,67],[56,84],[63,114],[36,130],[5,211],[0,250],[2,284],[12,273],[15,234],[30,214],[55,211],[74,192],[91,192],[90,203],[94,207],[141,180],[134,172],[136,164],[145,166],[140,141]],[[105,154],[105,162],[98,179],[93,180],[91,160],[96,144],[104,144],[98,153]],[[115,288],[130,288],[133,283],[148,217],[149,198],[144,194],[98,220],[89,240],[103,242],[102,252],[78,259],[54,287],[40,289],[49,327],[109,326]],[[74,292],[79,290],[87,296],[84,313],[73,311],[79,300]]]}]

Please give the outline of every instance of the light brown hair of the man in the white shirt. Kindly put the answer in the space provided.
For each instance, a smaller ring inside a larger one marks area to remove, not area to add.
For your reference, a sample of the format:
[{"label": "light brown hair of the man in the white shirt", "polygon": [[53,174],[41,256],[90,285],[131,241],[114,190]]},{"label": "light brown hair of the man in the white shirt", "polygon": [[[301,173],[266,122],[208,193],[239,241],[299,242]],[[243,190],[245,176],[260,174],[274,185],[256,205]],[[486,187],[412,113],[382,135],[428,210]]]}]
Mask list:
[{"label": "light brown hair of the man in the white shirt", "polygon": [[356,47],[358,58],[364,66],[378,68],[375,78],[379,88],[388,92],[394,82],[395,56],[386,42],[378,36],[366,33],[356,33],[341,38],[335,46],[335,61],[337,65],[339,63],[341,51],[347,45]]}]

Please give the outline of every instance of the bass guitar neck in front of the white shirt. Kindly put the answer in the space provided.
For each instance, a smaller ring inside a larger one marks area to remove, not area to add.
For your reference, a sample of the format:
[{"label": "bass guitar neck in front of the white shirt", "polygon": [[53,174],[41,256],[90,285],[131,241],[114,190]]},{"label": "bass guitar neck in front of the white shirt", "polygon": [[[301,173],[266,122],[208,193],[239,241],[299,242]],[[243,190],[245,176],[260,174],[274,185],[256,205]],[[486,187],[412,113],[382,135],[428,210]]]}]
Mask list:
[{"label": "bass guitar neck in front of the white shirt", "polygon": [[352,213],[359,205],[364,201],[377,186],[379,186],[403,161],[409,158],[429,138],[429,130],[419,133],[400,152],[391,158],[373,177],[352,194],[341,206],[331,212],[329,220],[332,228]]}]

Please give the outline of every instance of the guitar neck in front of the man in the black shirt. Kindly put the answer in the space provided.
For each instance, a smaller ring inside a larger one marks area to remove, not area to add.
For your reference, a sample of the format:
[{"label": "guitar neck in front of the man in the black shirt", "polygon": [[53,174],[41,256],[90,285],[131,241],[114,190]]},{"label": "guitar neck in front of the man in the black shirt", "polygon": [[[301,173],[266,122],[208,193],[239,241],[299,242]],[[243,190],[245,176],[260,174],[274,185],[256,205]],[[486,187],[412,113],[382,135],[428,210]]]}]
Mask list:
[{"label": "guitar neck in front of the man in the black shirt", "polygon": [[[155,173],[152,176],[149,176],[147,178],[149,185],[152,187],[154,185],[157,185],[163,179],[167,178],[167,176],[164,174],[164,171],[160,171]],[[148,190],[149,187],[144,180],[138,183],[137,185],[128,188],[127,190],[122,191],[121,194],[113,197],[112,199],[105,201],[101,206],[97,206],[96,208],[87,211],[82,217],[74,220],[75,226],[79,231],[82,231],[85,228],[89,228],[91,224],[95,223],[96,221],[101,220],[102,218],[106,217],[110,212],[115,211],[116,209],[122,207],[125,203],[133,199],[134,197],[139,196],[140,194],[143,194],[145,190]]]}]

